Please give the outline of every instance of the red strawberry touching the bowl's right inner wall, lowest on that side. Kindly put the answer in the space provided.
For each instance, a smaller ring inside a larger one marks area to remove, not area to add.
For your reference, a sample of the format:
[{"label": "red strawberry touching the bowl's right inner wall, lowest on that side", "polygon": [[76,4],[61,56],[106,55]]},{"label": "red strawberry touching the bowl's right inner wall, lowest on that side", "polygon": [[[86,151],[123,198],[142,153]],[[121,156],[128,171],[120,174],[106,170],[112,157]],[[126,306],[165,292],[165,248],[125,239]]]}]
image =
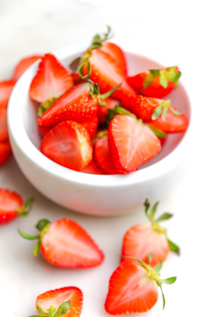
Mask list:
[{"label": "red strawberry touching the bowl's right inner wall, lowest on that side", "polygon": [[188,127],[188,118],[183,113],[176,116],[170,109],[167,109],[165,120],[160,115],[156,120],[150,120],[147,123],[165,133],[184,132]]}]

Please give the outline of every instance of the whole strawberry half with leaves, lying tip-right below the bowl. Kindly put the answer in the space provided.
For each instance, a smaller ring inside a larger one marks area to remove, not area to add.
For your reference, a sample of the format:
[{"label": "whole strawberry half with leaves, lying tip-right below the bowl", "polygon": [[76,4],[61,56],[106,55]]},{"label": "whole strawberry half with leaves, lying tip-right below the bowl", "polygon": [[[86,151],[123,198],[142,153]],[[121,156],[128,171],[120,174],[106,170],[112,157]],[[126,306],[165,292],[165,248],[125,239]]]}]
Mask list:
[{"label": "whole strawberry half with leaves, lying tip-right below the bowl", "polygon": [[[60,219],[50,223],[46,219],[38,222],[38,236],[29,236],[19,230],[26,239],[38,239],[33,255],[40,250],[44,259],[51,264],[66,268],[88,268],[101,264],[103,253],[87,232],[76,222]],[[65,246],[65,248],[64,248]]]}]

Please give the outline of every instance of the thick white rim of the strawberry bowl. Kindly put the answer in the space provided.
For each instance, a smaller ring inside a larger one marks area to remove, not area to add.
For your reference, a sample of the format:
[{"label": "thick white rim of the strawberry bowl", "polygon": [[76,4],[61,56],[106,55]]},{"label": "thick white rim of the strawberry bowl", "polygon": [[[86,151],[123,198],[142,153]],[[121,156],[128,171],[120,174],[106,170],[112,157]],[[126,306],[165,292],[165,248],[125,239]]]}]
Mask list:
[{"label": "thick white rim of the strawberry bowl", "polygon": [[[63,58],[67,58],[68,56],[77,55],[79,52],[85,50],[88,46],[88,43],[81,43],[81,44],[72,44],[60,49],[53,51],[54,54],[59,60]],[[133,49],[132,51],[125,50],[125,47],[122,45],[123,50],[126,53],[134,54],[139,57],[144,57],[152,62],[153,59],[150,59],[146,56],[139,54],[138,49]],[[190,125],[192,119],[192,111],[191,111],[191,103],[188,97],[187,90],[180,81],[179,85],[182,86],[185,97],[187,99],[189,105],[189,125],[187,130],[185,131],[181,141],[178,145],[166,155],[164,158],[160,159],[159,161],[155,162],[152,165],[144,167],[140,170],[134,171],[132,173],[126,175],[96,175],[96,174],[88,174],[83,173],[80,171],[74,171],[68,169],[62,165],[59,165],[51,159],[44,156],[37,147],[31,142],[29,139],[23,124],[17,124],[17,122],[22,122],[22,113],[23,113],[23,104],[18,104],[18,95],[20,91],[25,87],[25,81],[27,77],[31,77],[32,73],[34,73],[40,59],[33,63],[22,76],[19,78],[17,83],[15,84],[12,93],[10,95],[10,100],[8,103],[8,130],[11,145],[13,147],[13,141],[15,142],[16,146],[19,150],[26,156],[33,164],[37,165],[38,168],[42,169],[45,172],[50,173],[52,176],[56,176],[57,178],[63,179],[65,181],[69,181],[72,183],[77,184],[86,184],[92,186],[128,186],[130,184],[136,183],[143,183],[153,178],[158,178],[163,174],[168,173],[170,170],[176,168],[180,165],[182,158],[187,150],[189,136],[190,136]],[[160,64],[159,62],[157,62]],[[161,65],[161,67],[163,67]],[[22,106],[22,108],[21,108]]]}]

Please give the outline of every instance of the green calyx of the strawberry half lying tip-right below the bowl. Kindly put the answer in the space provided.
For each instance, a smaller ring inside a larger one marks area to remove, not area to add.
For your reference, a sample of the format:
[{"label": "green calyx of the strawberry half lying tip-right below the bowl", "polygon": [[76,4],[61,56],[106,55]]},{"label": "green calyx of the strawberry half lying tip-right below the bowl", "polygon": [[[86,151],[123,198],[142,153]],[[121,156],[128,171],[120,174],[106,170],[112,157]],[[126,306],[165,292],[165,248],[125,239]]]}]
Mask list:
[{"label": "green calyx of the strawberry half lying tip-right below the bowl", "polygon": [[49,230],[49,226],[50,226],[50,222],[47,219],[41,219],[40,221],[38,221],[36,228],[40,231],[40,234],[38,236],[31,236],[28,235],[27,233],[24,233],[23,231],[21,231],[20,229],[18,229],[18,233],[20,236],[22,236],[24,239],[28,239],[28,240],[36,240],[38,239],[38,242],[36,243],[34,249],[33,249],[33,256],[37,256],[38,252],[40,250],[40,246],[41,246],[41,240],[42,237],[44,236],[44,234],[46,232],[48,232]]}]

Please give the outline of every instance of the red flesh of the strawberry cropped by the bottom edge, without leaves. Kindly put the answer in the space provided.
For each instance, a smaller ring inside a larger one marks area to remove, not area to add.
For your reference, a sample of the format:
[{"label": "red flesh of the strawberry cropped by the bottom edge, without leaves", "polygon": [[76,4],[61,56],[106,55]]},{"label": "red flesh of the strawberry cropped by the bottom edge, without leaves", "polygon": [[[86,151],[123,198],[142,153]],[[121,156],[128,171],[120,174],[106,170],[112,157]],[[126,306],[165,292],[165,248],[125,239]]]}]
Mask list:
[{"label": "red flesh of the strawberry cropped by the bottom edge, without leaves", "polygon": [[71,307],[64,317],[79,317],[82,308],[83,294],[78,287],[70,286],[51,290],[40,294],[36,299],[36,307],[48,313],[50,306],[58,308],[65,301],[71,301]]}]

